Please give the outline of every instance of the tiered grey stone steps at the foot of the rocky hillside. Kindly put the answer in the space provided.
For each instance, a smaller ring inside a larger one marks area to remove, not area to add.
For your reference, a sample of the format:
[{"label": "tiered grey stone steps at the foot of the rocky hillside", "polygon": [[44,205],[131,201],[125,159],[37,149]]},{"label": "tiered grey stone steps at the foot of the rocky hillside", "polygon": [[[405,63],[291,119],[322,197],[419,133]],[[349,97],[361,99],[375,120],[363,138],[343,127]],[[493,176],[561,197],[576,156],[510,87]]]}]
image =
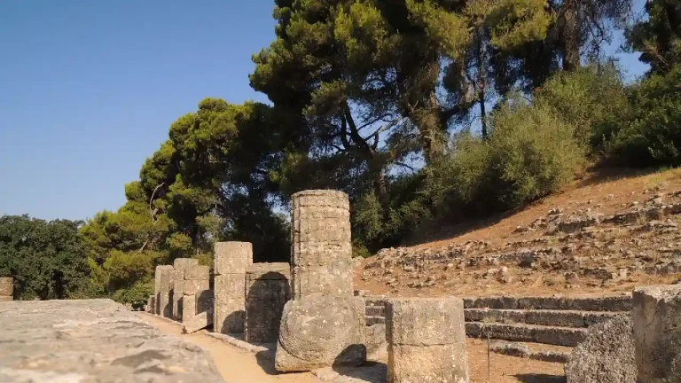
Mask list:
[{"label": "tiered grey stone steps at the foot of the rocky hillside", "polygon": [[[366,324],[385,323],[386,299],[364,300]],[[464,308],[468,337],[573,348],[585,339],[589,326],[630,312],[631,297],[465,298]],[[503,348],[513,353],[514,347]]]}]

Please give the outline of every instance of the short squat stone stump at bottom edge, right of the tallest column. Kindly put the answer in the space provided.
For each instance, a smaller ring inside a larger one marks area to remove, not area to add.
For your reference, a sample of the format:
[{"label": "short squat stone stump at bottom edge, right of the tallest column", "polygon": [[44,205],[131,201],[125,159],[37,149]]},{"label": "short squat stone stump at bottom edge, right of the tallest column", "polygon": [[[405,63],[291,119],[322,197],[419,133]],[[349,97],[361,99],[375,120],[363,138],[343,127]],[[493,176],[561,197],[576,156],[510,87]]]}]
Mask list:
[{"label": "short squat stone stump at bottom edge, right of the tallest column", "polygon": [[390,300],[386,309],[389,383],[468,381],[462,300]]}]

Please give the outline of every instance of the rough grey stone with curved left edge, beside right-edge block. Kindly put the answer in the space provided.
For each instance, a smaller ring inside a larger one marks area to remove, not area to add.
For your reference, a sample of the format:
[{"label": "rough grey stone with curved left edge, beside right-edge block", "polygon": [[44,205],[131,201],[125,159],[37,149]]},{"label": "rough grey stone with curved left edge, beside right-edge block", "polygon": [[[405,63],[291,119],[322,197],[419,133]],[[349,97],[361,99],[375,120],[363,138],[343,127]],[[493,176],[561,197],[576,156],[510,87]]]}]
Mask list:
[{"label": "rough grey stone with curved left edge, beside right-edge block", "polygon": [[636,362],[630,316],[593,325],[565,366],[568,383],[635,383]]}]

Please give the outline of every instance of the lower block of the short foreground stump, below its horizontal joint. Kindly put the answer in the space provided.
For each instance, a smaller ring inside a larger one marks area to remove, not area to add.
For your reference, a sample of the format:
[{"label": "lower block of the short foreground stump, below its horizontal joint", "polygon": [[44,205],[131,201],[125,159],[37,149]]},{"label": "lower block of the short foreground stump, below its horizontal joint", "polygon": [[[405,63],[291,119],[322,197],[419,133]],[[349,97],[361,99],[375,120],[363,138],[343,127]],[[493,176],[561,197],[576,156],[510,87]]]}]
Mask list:
[{"label": "lower block of the short foreground stump, below its horizontal joint", "polygon": [[387,345],[387,382],[464,383],[468,381],[466,346]]}]

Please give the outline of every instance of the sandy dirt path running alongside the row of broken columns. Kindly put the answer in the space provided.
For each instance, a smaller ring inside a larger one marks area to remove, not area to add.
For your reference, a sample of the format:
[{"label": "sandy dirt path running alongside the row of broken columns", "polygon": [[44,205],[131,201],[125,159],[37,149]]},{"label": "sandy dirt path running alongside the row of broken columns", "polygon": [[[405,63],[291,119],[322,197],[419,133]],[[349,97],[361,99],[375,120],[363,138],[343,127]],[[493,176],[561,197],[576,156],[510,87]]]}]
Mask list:
[{"label": "sandy dirt path running alongside the row of broken columns", "polygon": [[226,383],[318,383],[321,381],[310,373],[277,374],[273,361],[256,358],[250,351],[235,348],[203,332],[183,334],[181,327],[177,324],[171,324],[164,319],[145,313],[139,315],[161,332],[175,335],[205,348],[213,357],[217,370],[220,371]]}]

